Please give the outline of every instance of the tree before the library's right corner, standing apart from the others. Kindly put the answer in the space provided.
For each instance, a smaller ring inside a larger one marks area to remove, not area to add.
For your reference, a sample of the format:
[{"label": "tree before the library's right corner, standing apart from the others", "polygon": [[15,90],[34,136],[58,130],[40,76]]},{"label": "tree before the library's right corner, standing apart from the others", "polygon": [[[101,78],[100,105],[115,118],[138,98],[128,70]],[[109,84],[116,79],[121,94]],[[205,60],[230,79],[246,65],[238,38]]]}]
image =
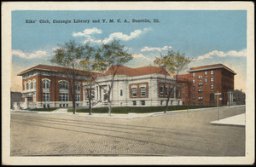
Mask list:
[{"label": "tree before the library's right corner, standing apart from the others", "polygon": [[[167,74],[170,74],[171,76],[174,75],[176,78],[173,89],[169,89],[167,94],[165,113],[168,109],[168,103],[172,92],[177,88],[178,74],[183,70],[183,67],[187,66],[191,61],[192,59],[186,58],[185,54],[180,54],[179,51],[175,52],[173,50],[168,51],[166,55],[160,55],[160,57],[155,58],[154,64],[165,70],[165,77]],[[164,89],[166,90],[166,83]]]}]

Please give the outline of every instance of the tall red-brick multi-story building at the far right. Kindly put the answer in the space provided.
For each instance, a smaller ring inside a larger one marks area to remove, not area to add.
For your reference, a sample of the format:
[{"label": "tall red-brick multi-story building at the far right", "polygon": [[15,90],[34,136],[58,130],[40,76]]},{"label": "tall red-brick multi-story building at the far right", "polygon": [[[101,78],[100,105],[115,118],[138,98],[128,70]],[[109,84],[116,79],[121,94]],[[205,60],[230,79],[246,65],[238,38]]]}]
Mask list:
[{"label": "tall red-brick multi-story building at the far right", "polygon": [[[231,97],[229,91],[234,89],[234,76],[236,72],[223,64],[192,67],[189,74],[180,75],[179,78],[187,80],[190,84],[189,105],[227,105]],[[218,95],[219,101],[217,99]]]}]

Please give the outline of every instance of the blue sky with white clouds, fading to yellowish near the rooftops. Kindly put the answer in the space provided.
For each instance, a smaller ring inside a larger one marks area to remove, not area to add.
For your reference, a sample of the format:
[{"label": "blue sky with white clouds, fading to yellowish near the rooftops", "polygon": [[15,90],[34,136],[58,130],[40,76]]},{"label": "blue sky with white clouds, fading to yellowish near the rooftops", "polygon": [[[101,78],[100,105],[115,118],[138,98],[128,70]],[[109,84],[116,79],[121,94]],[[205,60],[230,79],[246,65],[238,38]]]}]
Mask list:
[{"label": "blue sky with white clouds, fading to yellowish near the rooftops", "polygon": [[246,10],[16,10],[11,28],[12,91],[21,91],[19,72],[53,65],[49,59],[58,44],[109,43],[114,37],[133,54],[125,66],[154,65],[155,57],[173,49],[193,58],[184,72],[222,63],[236,72],[235,89],[246,89]]}]

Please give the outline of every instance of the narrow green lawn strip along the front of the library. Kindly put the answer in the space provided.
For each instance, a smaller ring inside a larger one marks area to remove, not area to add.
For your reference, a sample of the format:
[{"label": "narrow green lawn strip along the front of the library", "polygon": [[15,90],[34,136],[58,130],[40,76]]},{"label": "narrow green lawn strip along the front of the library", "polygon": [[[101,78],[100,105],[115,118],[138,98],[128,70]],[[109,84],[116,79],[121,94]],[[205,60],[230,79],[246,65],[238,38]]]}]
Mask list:
[{"label": "narrow green lawn strip along the front of the library", "polygon": [[[168,107],[168,111],[175,110],[187,110],[187,109],[195,109],[195,108],[207,108],[212,106],[171,106]],[[112,107],[112,113],[129,113],[129,112],[137,112],[137,113],[147,113],[147,112],[163,112],[166,107]],[[73,112],[73,109],[69,109],[68,112]],[[81,108],[77,109],[76,112],[89,112],[89,108]],[[108,113],[108,107],[102,108],[93,108],[93,113]]]}]

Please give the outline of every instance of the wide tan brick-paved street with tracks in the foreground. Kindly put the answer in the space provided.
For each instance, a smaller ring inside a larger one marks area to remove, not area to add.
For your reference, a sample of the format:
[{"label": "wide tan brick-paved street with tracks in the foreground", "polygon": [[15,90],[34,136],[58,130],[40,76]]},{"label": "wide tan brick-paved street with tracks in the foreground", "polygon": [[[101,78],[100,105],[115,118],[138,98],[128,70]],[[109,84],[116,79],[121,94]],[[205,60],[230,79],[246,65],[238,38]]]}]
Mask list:
[{"label": "wide tan brick-paved street with tracks in the foreground", "polygon": [[132,119],[11,112],[11,156],[244,156],[245,127],[216,119],[216,108]]}]

